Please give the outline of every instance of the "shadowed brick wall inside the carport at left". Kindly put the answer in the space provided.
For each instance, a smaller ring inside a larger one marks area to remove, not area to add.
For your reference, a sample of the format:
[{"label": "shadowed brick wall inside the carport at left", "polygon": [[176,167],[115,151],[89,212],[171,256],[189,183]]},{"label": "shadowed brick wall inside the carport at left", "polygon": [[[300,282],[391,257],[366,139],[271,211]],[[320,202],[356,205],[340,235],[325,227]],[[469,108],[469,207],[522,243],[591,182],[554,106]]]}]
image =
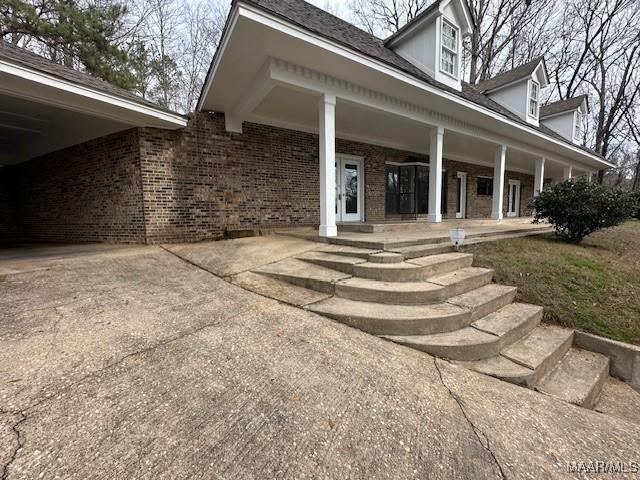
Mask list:
[{"label": "shadowed brick wall inside the carport at left", "polygon": [[1,175],[13,186],[5,239],[145,241],[135,129],[3,167]]}]

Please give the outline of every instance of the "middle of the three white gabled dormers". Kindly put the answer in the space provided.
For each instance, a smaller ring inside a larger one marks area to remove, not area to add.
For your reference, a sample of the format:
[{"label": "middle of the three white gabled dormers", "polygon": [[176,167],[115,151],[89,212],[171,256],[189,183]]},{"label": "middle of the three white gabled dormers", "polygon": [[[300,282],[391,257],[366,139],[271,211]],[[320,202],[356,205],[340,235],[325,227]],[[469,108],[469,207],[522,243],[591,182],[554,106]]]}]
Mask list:
[{"label": "middle of the three white gabled dormers", "polygon": [[476,89],[528,123],[538,126],[540,91],[547,85],[547,67],[544,58],[539,57],[480,82]]}]

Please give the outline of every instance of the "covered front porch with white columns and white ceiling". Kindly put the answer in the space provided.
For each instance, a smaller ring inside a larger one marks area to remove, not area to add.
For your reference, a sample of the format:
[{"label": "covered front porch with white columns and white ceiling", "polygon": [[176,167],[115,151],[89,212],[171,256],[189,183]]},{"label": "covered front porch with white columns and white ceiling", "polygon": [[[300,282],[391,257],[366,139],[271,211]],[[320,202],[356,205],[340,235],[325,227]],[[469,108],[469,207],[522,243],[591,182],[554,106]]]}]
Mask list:
[{"label": "covered front porch with white columns and white ceiling", "polygon": [[[295,150],[275,153],[284,163],[298,149],[317,152],[316,168],[300,172],[292,163],[274,176],[304,183],[303,202],[318,195],[317,214],[305,211],[317,215],[322,237],[347,222],[527,216],[545,183],[601,166],[499,106],[474,103],[473,94],[280,27],[240,10],[198,108],[223,112],[227,132],[247,135],[250,123],[317,135],[299,146],[287,134]],[[258,36],[260,44],[249,41]],[[300,203],[291,208],[302,216]]]}]

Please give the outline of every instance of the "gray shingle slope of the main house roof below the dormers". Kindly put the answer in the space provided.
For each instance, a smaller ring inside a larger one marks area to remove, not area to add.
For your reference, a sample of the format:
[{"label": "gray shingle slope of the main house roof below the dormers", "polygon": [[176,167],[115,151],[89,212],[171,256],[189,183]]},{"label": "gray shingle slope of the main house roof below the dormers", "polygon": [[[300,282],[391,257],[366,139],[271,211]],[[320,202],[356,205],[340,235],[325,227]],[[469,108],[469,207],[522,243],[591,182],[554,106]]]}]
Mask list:
[{"label": "gray shingle slope of the main house roof below the dormers", "polygon": [[[491,100],[488,96],[481,93],[477,89],[477,85],[470,85],[466,82],[462,82],[462,92],[459,92],[458,90],[451,88],[448,85],[436,81],[433,77],[429,76],[418,67],[402,58],[396,52],[394,52],[390,48],[387,48],[385,46],[384,40],[379,39],[378,37],[356,27],[355,25],[352,25],[351,23],[334,16],[329,12],[311,5],[304,0],[234,0],[234,2],[239,1],[254,5],[264,11],[267,11],[268,13],[279,16],[284,20],[296,24],[308,31],[316,33],[329,40],[340,43],[348,48],[357,50],[358,52],[363,53],[373,59],[379,60],[383,63],[386,63],[387,65],[395,67],[413,76],[414,78],[428,83],[429,85],[432,85],[440,90],[446,91],[453,95],[457,95],[458,97],[461,97],[477,105],[481,105],[503,115],[504,117],[514,122],[520,123],[521,125],[527,126],[534,130],[538,130],[539,132],[542,132],[549,137],[555,138],[556,140],[559,140],[567,145],[578,147],[587,153],[602,158],[600,154],[594,152],[593,150],[581,145],[573,144],[562,135],[556,133],[555,131],[542,124],[536,127],[535,125],[531,125],[525,122],[513,112],[507,110],[500,104]],[[533,67],[533,70],[535,70],[535,66],[540,63],[540,60],[541,58],[533,60],[532,62],[529,62],[525,65],[535,64]],[[522,67],[524,67],[525,65],[523,65]]]}]

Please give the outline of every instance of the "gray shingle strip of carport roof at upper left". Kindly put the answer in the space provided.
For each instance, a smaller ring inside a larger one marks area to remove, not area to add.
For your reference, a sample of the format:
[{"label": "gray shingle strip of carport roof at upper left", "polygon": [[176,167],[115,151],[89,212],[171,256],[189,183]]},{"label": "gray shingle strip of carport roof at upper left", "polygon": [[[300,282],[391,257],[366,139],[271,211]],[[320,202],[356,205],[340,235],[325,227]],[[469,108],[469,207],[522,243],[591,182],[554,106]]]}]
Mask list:
[{"label": "gray shingle strip of carport roof at upper left", "polygon": [[112,85],[111,83],[94,77],[93,75],[90,75],[88,73],[80,72],[64,65],[59,65],[29,50],[5,42],[2,39],[0,39],[0,60],[5,60],[13,64],[21,65],[31,70],[37,70],[39,72],[52,75],[76,85],[92,88],[94,90],[114,95],[125,100],[131,100],[142,105],[169,112],[169,110],[162,108],[161,106],[153,102],[145,100],[144,98],[136,95],[133,92],[116,87],[115,85]]}]

